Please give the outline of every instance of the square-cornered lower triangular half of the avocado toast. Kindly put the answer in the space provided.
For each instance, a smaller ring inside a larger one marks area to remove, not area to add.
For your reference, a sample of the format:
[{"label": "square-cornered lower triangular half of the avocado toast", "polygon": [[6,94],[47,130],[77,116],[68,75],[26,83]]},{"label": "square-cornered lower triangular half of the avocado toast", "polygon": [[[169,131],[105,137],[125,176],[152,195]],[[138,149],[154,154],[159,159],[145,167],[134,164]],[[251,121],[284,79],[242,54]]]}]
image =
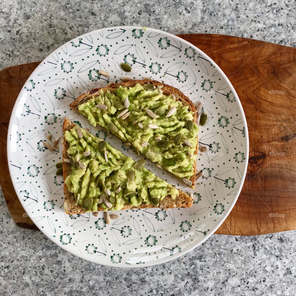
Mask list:
[{"label": "square-cornered lower triangular half of the avocado toast", "polygon": [[[78,125],[63,124],[68,215],[131,208],[188,208],[192,199]],[[120,188],[120,189],[119,189]]]}]

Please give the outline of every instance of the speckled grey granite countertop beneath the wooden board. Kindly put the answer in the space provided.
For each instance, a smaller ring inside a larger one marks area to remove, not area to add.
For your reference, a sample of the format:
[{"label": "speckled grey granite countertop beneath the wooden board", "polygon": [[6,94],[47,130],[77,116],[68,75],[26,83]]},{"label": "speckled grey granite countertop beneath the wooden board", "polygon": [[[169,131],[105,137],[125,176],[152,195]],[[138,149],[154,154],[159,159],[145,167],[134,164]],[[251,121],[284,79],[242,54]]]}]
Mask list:
[{"label": "speckled grey granite countertop beneath the wooden board", "polygon": [[[173,34],[216,33],[295,46],[295,1],[19,1],[0,6],[0,68],[42,60],[102,27],[141,25]],[[296,233],[213,235],[165,264],[95,265],[42,233],[15,226],[0,196],[1,295],[295,295]]]}]

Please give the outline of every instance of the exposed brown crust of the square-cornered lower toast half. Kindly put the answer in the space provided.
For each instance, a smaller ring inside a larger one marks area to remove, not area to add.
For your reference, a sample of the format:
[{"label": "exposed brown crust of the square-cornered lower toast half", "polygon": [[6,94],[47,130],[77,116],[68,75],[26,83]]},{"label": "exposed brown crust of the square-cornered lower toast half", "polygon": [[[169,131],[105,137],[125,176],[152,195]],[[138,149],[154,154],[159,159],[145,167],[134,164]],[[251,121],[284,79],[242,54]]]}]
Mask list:
[{"label": "exposed brown crust of the square-cornered lower toast half", "polygon": [[[66,118],[63,124],[63,135],[65,135],[66,130],[70,131],[75,125],[74,122],[68,120]],[[69,144],[65,140],[65,136],[63,138],[63,159],[69,158],[67,150],[69,149]],[[70,174],[70,164],[63,162],[63,177],[64,180]],[[131,207],[130,205],[125,205],[122,210],[126,209],[138,209],[138,208],[190,208],[192,206],[193,199],[189,197],[186,193],[179,190],[179,195],[175,199],[171,199],[171,195],[167,195],[164,199],[159,201],[159,205],[155,206],[153,204],[146,205],[145,203],[140,204],[137,207]],[[64,183],[64,209],[66,214],[73,215],[73,214],[81,214],[87,212],[87,210],[83,209],[79,204],[75,204],[74,195],[68,191],[67,185]],[[98,207],[98,211],[103,211],[103,208]]]}]

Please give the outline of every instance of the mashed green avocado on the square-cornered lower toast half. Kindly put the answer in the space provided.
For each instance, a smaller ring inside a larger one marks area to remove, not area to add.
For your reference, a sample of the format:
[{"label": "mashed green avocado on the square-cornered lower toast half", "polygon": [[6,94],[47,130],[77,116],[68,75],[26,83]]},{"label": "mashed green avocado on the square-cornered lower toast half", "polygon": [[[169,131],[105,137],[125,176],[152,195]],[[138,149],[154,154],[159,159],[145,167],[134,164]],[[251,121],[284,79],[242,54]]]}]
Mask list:
[{"label": "mashed green avocado on the square-cornered lower toast half", "polygon": [[[77,134],[76,127],[65,132],[65,139],[70,146],[67,150],[69,158],[76,160],[78,157],[80,161],[80,166],[71,166],[70,174],[65,180],[68,190],[75,196],[76,204],[89,211],[97,211],[98,205],[105,211],[118,211],[124,204],[157,205],[166,195],[171,195],[172,199],[179,195],[175,187],[145,168],[138,168],[142,166],[135,166],[136,162],[132,158],[104,140],[80,130],[82,137]],[[121,187],[120,192],[118,187]],[[105,197],[102,198],[102,195]]]}]

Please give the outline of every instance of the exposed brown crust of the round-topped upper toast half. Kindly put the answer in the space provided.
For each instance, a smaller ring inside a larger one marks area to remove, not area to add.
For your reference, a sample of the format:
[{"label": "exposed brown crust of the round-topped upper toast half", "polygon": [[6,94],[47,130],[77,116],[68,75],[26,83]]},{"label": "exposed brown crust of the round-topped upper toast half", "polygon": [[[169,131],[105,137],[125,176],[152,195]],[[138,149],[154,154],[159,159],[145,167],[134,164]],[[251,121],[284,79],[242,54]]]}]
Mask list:
[{"label": "exposed brown crust of the round-topped upper toast half", "polygon": [[[162,85],[163,86],[162,87],[163,94],[166,95],[166,96],[169,96],[170,94],[174,94],[175,97],[176,97],[176,100],[182,102],[182,104],[184,106],[188,106],[189,110],[194,113],[193,114],[193,120],[192,121],[194,123],[196,123],[197,113],[196,113],[195,106],[190,101],[190,99],[188,97],[186,97],[182,92],[180,92],[179,89],[177,89],[177,88],[175,88],[173,86],[164,84],[164,83],[160,83],[159,81],[156,81],[156,80],[152,80],[152,81],[147,81],[147,80],[129,80],[129,81],[125,81],[125,82],[111,83],[111,84],[109,84],[109,85],[107,85],[106,87],[103,87],[103,88],[94,88],[94,89],[91,89],[88,92],[82,94],[81,96],[79,96],[69,106],[70,106],[70,108],[72,108],[72,109],[76,110],[77,112],[79,112],[78,111],[78,106],[81,105],[81,104],[83,104],[83,103],[85,103],[85,102],[87,102],[93,96],[96,96],[96,95],[99,96],[101,89],[104,92],[107,92],[109,90],[111,93],[113,93],[113,92],[116,91],[117,88],[119,88],[119,86],[122,86],[122,87],[134,87],[136,84],[144,85],[146,83],[150,83],[150,84],[152,83],[156,87],[158,85]],[[197,151],[198,151],[198,135],[196,135],[196,138],[197,138],[197,144],[196,144],[196,149],[195,149],[195,152],[194,152],[195,155],[197,154]],[[196,160],[194,162],[192,175],[191,175],[191,177],[189,179],[192,182],[192,185],[190,186],[191,188],[194,188],[195,187],[195,172],[196,172]],[[180,181],[183,182],[182,179],[180,179]]]}]

